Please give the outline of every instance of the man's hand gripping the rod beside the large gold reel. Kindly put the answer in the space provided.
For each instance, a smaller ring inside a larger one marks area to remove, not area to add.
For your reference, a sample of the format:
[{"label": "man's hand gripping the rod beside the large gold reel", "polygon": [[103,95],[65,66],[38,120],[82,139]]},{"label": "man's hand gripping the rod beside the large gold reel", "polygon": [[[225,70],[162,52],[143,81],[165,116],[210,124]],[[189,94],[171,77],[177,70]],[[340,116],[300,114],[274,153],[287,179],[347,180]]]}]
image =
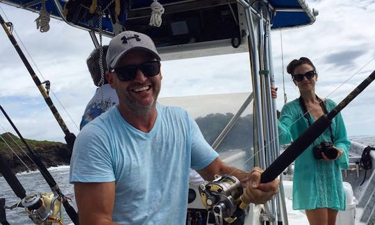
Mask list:
[{"label": "man's hand gripping the rod beside the large gold reel", "polygon": [[260,167],[254,167],[249,172],[244,194],[242,195],[244,203],[264,204],[277,194],[280,180],[276,178],[269,183],[260,183],[260,175],[262,173],[263,169],[260,169]]}]

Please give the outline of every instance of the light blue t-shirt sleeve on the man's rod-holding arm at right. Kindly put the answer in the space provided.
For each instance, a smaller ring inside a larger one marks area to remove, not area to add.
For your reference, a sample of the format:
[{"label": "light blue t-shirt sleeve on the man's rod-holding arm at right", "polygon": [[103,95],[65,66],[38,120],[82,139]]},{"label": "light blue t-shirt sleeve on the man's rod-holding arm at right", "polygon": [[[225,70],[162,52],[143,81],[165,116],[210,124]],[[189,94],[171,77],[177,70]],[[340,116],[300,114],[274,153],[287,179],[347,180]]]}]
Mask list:
[{"label": "light blue t-shirt sleeve on the man's rod-holding arm at right", "polygon": [[192,169],[199,170],[210,165],[219,154],[204,139],[197,122],[189,117],[192,138]]}]

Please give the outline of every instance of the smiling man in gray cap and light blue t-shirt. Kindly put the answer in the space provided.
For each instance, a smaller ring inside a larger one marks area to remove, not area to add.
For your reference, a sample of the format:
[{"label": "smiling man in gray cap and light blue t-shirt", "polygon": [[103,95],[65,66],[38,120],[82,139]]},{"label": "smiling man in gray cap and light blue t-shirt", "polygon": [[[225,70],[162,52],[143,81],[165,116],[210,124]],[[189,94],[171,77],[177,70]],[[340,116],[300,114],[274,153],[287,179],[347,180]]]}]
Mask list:
[{"label": "smiling man in gray cap and light blue t-shirt", "polygon": [[276,194],[278,180],[260,184],[260,168],[228,167],[185,110],[156,103],[162,74],[151,38],[120,33],[106,63],[119,103],[85,125],[70,165],[81,225],[185,224],[190,168],[206,180],[232,174],[248,181],[245,203]]}]

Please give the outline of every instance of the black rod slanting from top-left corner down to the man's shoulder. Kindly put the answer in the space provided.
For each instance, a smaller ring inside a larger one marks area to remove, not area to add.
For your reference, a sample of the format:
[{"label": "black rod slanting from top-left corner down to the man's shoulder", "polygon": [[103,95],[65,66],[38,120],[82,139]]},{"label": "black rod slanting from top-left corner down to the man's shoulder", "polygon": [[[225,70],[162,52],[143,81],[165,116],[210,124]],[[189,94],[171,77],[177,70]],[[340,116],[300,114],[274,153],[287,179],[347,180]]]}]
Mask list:
[{"label": "black rod slanting from top-left corner down to the man's shoulder", "polygon": [[8,35],[8,38],[10,42],[12,42],[13,47],[15,47],[19,57],[22,59],[22,62],[24,62],[24,65],[26,66],[26,69],[31,75],[31,78],[33,78],[33,81],[35,85],[37,85],[38,89],[40,90],[40,93],[44,97],[44,101],[46,101],[47,105],[52,111],[53,116],[56,118],[58,124],[60,125],[61,129],[63,129],[63,132],[65,133],[65,141],[69,145],[69,147],[72,149],[74,140],[76,140],[76,135],[74,133],[70,133],[69,129],[67,128],[67,125],[65,124],[63,118],[60,116],[60,113],[58,113],[58,110],[56,107],[53,105],[53,102],[51,98],[49,97],[49,94],[45,90],[44,86],[42,83],[40,83],[40,80],[38,76],[35,74],[33,68],[31,67],[30,63],[28,63],[28,60],[26,59],[24,53],[22,52],[21,48],[19,47],[17,41],[15,40],[15,37],[13,37],[10,29],[8,28],[8,24],[4,21],[3,17],[1,17],[0,14],[0,23],[1,26],[3,26],[4,31],[6,31],[6,34]]}]

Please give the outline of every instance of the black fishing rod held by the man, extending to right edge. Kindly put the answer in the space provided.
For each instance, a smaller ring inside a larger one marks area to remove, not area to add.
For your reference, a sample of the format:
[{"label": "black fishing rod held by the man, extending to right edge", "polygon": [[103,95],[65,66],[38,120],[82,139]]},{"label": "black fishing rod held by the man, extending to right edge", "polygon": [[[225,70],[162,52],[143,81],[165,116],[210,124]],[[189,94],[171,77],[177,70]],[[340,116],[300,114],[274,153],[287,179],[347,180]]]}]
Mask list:
[{"label": "black fishing rod held by the man, extending to right edge", "polygon": [[274,163],[269,165],[265,172],[263,172],[260,183],[268,183],[273,181],[284,169],[288,167],[308,146],[313,143],[322,133],[331,125],[333,117],[338,115],[340,111],[345,108],[354,98],[360,94],[367,86],[375,79],[375,70],[370,74],[365,81],[360,83],[338,106],[333,108],[328,114],[319,117],[304,133],[302,133],[297,140],[295,140],[288,149],[274,160]]}]

